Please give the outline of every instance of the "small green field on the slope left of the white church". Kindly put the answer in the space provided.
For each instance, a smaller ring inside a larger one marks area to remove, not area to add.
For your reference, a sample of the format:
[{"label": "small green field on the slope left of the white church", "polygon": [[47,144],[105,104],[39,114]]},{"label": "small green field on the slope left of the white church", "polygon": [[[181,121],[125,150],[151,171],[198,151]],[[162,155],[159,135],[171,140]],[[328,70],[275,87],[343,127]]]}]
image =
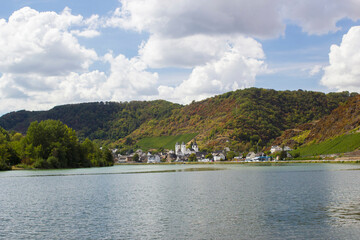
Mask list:
[{"label": "small green field on the slope left of the white church", "polygon": [[147,151],[149,149],[172,149],[175,150],[175,143],[189,142],[191,139],[195,138],[198,133],[188,133],[176,136],[161,136],[161,137],[148,137],[140,139],[137,145],[144,150]]}]

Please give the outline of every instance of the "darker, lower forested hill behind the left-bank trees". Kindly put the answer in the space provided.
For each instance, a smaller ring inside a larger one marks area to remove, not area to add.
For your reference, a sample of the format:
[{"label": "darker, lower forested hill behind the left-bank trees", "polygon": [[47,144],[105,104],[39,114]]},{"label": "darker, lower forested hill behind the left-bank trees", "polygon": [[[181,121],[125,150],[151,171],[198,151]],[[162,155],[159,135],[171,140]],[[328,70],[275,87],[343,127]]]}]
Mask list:
[{"label": "darker, lower forested hill behind the left-bank trees", "polygon": [[117,140],[142,123],[166,118],[181,107],[163,100],[70,104],[49,111],[11,112],[0,118],[0,126],[24,134],[31,122],[54,119],[76,130],[81,139]]}]

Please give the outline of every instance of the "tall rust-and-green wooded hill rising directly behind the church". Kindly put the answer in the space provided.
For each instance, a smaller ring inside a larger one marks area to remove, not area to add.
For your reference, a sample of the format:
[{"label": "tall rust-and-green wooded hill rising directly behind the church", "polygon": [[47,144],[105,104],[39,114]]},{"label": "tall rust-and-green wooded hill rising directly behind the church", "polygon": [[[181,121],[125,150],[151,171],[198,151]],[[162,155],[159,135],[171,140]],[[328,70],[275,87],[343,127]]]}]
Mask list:
[{"label": "tall rust-and-green wooded hill rising directly behind the church", "polygon": [[168,118],[145,122],[130,136],[141,139],[198,132],[196,139],[201,148],[228,146],[247,151],[256,144],[268,145],[286,129],[328,115],[350,95],[348,92],[238,90],[193,102],[174,110]]}]

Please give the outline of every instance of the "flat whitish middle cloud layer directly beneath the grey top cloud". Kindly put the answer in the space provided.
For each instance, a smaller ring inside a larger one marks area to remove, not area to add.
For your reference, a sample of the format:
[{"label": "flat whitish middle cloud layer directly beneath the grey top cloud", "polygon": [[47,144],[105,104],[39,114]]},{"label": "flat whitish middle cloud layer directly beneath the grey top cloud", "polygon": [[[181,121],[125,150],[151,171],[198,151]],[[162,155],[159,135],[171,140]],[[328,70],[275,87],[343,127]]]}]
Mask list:
[{"label": "flat whitish middle cloud layer directly beneath the grey top cloud", "polygon": [[183,38],[152,35],[140,47],[139,55],[151,68],[193,68],[217,61],[234,48],[239,54],[264,57],[259,43],[251,38],[236,35],[193,35]]}]

